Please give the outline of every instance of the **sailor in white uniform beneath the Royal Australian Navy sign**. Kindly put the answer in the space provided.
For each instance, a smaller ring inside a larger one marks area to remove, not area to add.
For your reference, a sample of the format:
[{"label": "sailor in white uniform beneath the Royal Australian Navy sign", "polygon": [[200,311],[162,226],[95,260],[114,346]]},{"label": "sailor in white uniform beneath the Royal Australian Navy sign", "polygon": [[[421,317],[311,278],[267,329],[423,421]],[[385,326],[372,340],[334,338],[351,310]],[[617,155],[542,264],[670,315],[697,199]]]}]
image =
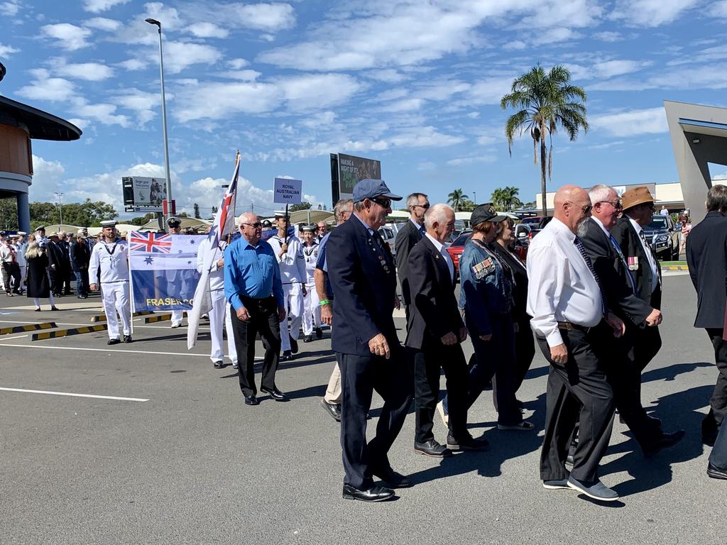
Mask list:
[{"label": "sailor in white uniform beneath the Royal Australian Navy sign", "polygon": [[292,360],[293,354],[298,351],[297,339],[303,317],[303,298],[308,291],[305,288],[305,259],[300,239],[288,234],[289,217],[284,211],[276,211],[275,222],[278,234],[271,236],[268,243],[278,258],[286,312],[290,317],[290,329],[288,318],[280,323],[281,350],[283,350],[280,359],[286,361]]}]

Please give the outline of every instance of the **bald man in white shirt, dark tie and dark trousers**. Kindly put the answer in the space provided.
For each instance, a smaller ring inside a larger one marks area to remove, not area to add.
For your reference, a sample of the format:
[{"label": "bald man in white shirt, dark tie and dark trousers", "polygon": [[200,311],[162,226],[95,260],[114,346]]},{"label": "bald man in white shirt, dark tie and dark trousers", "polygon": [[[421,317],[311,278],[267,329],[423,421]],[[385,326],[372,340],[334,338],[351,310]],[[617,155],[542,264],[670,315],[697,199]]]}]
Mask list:
[{"label": "bald man in white shirt, dark tie and dark trousers", "polygon": [[[566,185],[555,193],[553,221],[528,250],[527,311],[550,363],[540,475],[545,488],[574,488],[601,501],[619,495],[598,480],[598,464],[611,437],[614,395],[590,330],[606,320],[614,336],[624,323],[608,311],[605,293],[577,233],[585,234],[591,203],[585,190]],[[565,469],[570,437],[580,422],[571,473]]]}]

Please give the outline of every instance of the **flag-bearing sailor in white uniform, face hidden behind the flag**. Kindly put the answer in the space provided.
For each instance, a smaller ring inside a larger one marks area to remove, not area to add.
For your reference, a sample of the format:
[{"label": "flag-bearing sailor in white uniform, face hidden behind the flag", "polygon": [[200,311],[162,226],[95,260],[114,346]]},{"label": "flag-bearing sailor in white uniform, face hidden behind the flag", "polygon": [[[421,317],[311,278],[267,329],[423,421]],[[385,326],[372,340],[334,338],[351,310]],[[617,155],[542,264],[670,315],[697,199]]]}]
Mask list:
[{"label": "flag-bearing sailor in white uniform, face hidden behind the flag", "polygon": [[[197,271],[202,272],[204,259],[209,251],[210,241],[205,238],[197,247]],[[209,298],[212,308],[209,310],[210,339],[212,340],[212,352],[209,359],[216,369],[225,367],[225,355],[222,351],[222,326],[227,328],[228,334],[228,356],[232,360],[233,368],[237,365],[237,350],[235,347],[235,336],[232,329],[232,318],[230,318],[230,305],[225,304],[225,248],[227,243],[220,242],[220,246],[214,249],[212,258],[212,270],[209,271]]]}]

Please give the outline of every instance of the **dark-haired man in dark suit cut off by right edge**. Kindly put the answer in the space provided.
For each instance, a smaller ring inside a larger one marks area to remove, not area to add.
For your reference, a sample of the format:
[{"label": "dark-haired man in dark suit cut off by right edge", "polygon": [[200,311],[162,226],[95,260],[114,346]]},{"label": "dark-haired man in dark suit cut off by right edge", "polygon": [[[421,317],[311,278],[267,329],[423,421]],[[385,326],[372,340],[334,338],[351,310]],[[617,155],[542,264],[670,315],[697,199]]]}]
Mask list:
[{"label": "dark-haired man in dark suit cut off by right edge", "polygon": [[697,294],[694,327],[705,328],[715,349],[719,371],[702,420],[702,441],[713,445],[727,413],[727,341],[723,339],[727,278],[727,186],[713,185],[707,192],[707,215],[686,239],[686,261]]}]

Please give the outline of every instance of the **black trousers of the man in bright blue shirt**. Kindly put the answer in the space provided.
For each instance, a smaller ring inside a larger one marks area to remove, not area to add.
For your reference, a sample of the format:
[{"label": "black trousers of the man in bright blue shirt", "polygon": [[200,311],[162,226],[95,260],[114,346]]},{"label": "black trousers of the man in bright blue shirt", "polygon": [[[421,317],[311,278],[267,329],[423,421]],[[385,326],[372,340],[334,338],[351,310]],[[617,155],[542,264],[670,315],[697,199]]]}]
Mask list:
[{"label": "black trousers of the man in bright blue shirt", "polygon": [[255,337],[262,337],[265,359],[262,361],[262,380],[260,386],[267,389],[275,387],[275,374],[280,358],[280,322],[278,321],[278,302],[275,297],[267,299],[242,299],[250,319],[240,320],[234,308],[230,308],[237,363],[240,373],[240,389],[243,395],[257,395],[255,387]]}]

